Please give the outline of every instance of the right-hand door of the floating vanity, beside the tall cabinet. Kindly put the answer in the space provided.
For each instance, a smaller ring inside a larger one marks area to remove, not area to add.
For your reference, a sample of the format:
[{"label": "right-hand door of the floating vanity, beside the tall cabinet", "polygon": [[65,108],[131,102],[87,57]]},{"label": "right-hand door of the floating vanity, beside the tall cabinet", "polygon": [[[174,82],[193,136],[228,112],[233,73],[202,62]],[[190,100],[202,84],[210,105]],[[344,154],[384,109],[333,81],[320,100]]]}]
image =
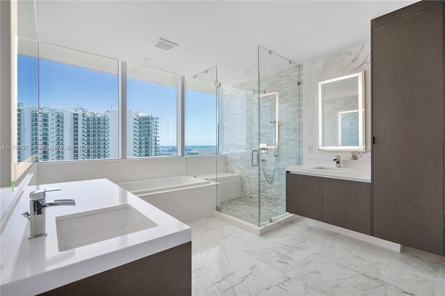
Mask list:
[{"label": "right-hand door of the floating vanity, beside the tall cabinet", "polygon": [[371,235],[371,183],[323,178],[323,222]]}]

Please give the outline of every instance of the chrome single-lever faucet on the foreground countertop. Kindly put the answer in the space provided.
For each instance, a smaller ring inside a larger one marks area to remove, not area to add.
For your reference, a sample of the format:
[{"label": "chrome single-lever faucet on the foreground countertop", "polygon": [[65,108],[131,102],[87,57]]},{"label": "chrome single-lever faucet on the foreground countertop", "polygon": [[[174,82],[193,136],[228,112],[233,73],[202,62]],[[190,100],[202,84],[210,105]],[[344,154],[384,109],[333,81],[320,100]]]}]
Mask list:
[{"label": "chrome single-lever faucet on the foreground countertop", "polygon": [[74,199],[56,199],[47,201],[47,192],[58,191],[60,188],[52,189],[40,189],[29,193],[29,212],[25,212],[22,215],[27,217],[30,223],[31,233],[28,238],[40,238],[40,236],[46,236],[47,224],[45,220],[44,212],[49,206],[75,206]]}]

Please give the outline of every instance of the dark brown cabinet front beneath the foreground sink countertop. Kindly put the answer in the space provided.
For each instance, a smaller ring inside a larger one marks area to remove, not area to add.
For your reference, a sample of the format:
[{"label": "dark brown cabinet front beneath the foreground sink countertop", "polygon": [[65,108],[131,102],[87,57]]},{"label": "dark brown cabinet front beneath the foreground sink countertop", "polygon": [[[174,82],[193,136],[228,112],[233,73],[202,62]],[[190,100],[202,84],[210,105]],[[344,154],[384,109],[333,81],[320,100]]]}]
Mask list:
[{"label": "dark brown cabinet front beneath the foreground sink countertop", "polygon": [[191,242],[39,295],[191,295]]}]

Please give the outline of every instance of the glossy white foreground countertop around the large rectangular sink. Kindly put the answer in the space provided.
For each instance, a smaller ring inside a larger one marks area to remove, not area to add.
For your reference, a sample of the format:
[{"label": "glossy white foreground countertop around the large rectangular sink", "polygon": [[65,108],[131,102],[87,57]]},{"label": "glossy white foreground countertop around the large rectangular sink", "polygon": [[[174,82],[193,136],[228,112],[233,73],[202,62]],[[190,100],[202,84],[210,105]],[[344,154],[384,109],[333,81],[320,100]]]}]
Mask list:
[{"label": "glossy white foreground countertop around the large rectangular sink", "polygon": [[[29,192],[42,188],[61,188],[47,193],[47,200],[75,199],[76,206],[47,208],[48,235],[29,240],[29,221],[18,216],[29,211]],[[56,217],[122,204],[130,204],[158,226],[58,251]],[[29,186],[1,234],[1,295],[43,293],[190,241],[186,224],[107,179]]]}]

